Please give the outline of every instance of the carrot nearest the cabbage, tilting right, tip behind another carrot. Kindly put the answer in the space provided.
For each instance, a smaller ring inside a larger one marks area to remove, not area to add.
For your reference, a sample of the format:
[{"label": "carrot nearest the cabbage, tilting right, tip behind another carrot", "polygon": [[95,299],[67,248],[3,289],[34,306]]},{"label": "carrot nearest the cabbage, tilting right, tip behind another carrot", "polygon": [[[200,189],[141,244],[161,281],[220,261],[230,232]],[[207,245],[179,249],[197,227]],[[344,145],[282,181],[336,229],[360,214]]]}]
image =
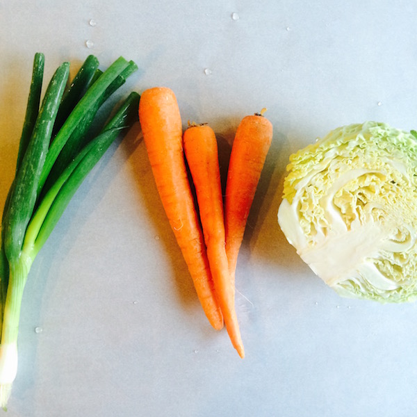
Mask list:
[{"label": "carrot nearest the cabbage, tilting right, tip behind another carrot", "polygon": [[224,199],[224,226],[233,286],[247,216],[272,142],[272,124],[263,116],[265,110],[243,118],[231,148]]}]

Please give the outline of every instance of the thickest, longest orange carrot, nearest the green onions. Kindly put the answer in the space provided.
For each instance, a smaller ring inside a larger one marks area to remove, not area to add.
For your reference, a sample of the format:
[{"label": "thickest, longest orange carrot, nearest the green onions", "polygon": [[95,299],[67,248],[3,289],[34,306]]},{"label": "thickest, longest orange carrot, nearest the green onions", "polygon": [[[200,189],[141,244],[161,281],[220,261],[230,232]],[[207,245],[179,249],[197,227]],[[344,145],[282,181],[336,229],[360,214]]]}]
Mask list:
[{"label": "thickest, longest orange carrot, nearest the green onions", "polygon": [[197,296],[208,321],[215,329],[221,329],[223,318],[188,181],[181,115],[174,92],[163,87],[145,90],[140,97],[139,120],[156,187]]}]

